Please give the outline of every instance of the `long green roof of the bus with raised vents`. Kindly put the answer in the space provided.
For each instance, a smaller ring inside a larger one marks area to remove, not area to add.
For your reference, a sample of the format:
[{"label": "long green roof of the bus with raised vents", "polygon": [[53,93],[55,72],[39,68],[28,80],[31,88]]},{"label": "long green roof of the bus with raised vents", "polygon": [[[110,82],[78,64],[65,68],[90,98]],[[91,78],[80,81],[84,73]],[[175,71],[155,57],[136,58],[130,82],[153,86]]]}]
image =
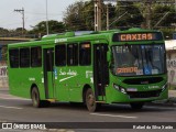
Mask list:
[{"label": "long green roof of the bus with raised vents", "polygon": [[[146,29],[139,29],[139,28],[132,28],[128,30],[109,30],[109,31],[76,31],[76,32],[65,32],[59,34],[51,34],[51,35],[44,35],[38,41],[31,41],[31,42],[23,42],[23,43],[13,43],[9,44],[9,47],[15,47],[15,46],[28,46],[28,45],[36,45],[36,44],[46,44],[48,42],[56,43],[56,40],[59,38],[68,38],[73,41],[73,38],[87,38],[87,40],[94,40],[94,38],[105,38],[108,36],[111,36],[113,33],[141,33],[141,32],[160,32],[156,30],[146,30]],[[90,38],[91,37],[91,38]],[[69,41],[68,41],[69,42]]]}]

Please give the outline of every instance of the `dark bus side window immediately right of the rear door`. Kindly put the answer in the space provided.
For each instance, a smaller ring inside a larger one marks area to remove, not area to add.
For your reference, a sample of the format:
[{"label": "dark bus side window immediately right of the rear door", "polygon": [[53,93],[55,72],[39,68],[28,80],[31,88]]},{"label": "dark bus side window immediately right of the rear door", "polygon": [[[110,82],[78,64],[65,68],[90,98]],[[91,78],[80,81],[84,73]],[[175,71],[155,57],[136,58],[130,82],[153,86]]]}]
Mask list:
[{"label": "dark bus side window immediately right of the rear door", "polygon": [[56,45],[55,46],[55,64],[56,66],[66,65],[66,45]]}]

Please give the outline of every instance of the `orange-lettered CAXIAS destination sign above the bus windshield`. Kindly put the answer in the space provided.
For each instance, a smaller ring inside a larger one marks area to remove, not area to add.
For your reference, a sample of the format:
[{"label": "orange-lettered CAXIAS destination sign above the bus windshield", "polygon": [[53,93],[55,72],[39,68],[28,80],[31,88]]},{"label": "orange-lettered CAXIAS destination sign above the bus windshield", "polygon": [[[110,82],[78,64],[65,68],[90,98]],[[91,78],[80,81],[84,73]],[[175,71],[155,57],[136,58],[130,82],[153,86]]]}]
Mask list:
[{"label": "orange-lettered CAXIAS destination sign above the bus windshield", "polygon": [[157,41],[162,40],[161,33],[122,33],[114,34],[113,42],[131,42],[131,41]]}]

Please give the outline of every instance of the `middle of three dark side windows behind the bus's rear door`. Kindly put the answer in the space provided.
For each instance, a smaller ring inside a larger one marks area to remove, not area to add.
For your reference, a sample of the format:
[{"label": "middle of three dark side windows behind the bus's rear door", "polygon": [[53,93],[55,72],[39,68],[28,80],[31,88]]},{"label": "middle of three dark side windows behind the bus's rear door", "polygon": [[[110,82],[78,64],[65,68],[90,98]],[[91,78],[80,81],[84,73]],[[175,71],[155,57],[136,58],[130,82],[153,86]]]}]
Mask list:
[{"label": "middle of three dark side windows behind the bus's rear door", "polygon": [[20,50],[20,67],[30,67],[30,48]]}]

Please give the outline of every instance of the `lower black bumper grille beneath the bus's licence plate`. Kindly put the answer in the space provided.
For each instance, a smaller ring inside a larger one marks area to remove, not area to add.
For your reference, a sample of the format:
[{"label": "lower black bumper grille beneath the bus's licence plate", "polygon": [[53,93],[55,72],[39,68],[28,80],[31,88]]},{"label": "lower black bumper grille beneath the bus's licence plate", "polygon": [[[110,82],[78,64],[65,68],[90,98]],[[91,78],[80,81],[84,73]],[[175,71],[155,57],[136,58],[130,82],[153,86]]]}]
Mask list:
[{"label": "lower black bumper grille beneath the bus's licence plate", "polygon": [[153,91],[128,91],[130,98],[151,98],[158,97],[162,90],[153,90]]}]

